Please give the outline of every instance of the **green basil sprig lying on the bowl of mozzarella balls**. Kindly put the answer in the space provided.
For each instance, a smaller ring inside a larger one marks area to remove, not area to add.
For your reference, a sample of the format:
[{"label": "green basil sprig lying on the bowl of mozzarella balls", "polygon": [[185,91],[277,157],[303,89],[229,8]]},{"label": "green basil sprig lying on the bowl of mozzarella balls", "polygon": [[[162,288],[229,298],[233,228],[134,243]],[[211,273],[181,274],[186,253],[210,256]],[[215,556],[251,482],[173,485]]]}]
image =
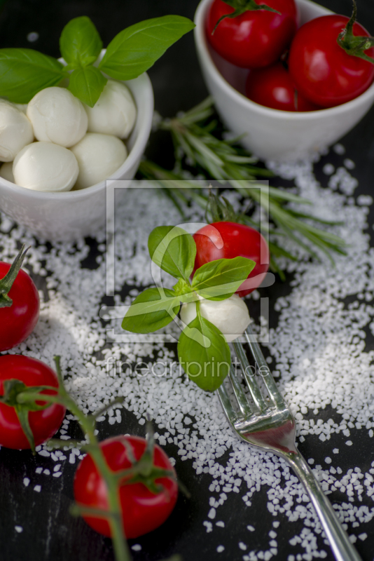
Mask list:
[{"label": "green basil sprig lying on the bowl of mozzarella balls", "polygon": [[107,78],[132,80],[146,72],[165,50],[195,25],[181,15],[165,15],[131,25],[118,33],[93,66],[102,50],[102,39],[87,16],[71,20],[60,37],[61,55],[67,66],[29,48],[0,49],[0,96],[28,103],[40,90],[69,79],[69,90],[94,107]]}]

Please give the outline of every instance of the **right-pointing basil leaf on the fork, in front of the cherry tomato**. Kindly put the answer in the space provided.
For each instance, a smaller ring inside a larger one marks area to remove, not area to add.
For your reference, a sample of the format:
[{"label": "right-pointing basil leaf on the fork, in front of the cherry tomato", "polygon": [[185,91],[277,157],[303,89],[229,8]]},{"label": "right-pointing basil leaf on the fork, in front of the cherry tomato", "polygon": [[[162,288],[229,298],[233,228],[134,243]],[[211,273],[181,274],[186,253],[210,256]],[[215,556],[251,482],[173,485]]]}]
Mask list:
[{"label": "right-pointing basil leaf on the fork, in front of the cherry tomato", "polygon": [[203,298],[225,300],[233,296],[255,266],[247,257],[216,259],[195,271],[192,288]]}]

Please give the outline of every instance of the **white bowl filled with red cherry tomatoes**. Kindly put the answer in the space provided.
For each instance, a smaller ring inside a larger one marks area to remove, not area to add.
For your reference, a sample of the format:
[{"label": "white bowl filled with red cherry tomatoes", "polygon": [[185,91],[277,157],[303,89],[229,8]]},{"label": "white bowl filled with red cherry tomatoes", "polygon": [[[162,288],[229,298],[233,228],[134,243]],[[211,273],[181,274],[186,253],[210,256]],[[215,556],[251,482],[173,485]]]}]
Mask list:
[{"label": "white bowl filled with red cherry tomatoes", "polygon": [[[202,0],[195,14],[195,45],[216,109],[259,158],[312,158],[374,103],[369,34],[310,0],[266,0],[268,11],[240,12],[240,4],[235,15],[235,2]],[[363,57],[338,44],[345,26],[340,41],[347,46],[359,36]]]}]

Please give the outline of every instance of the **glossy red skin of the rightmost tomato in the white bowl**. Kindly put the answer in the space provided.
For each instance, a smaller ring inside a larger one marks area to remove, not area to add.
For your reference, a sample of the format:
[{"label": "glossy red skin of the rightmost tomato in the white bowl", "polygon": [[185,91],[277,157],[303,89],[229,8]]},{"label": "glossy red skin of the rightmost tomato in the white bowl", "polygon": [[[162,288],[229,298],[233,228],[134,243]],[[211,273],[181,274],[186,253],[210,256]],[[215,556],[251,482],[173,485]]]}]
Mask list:
[{"label": "glossy red skin of the rightmost tomato in the white bowl", "polygon": [[[344,15],[324,15],[305,23],[294,37],[289,52],[289,72],[298,91],[321,107],[335,107],[353,100],[368,89],[374,79],[374,65],[347,55],[338,35],[347,25]],[[368,36],[359,23],[354,35]],[[374,48],[365,51],[374,56]]]}]

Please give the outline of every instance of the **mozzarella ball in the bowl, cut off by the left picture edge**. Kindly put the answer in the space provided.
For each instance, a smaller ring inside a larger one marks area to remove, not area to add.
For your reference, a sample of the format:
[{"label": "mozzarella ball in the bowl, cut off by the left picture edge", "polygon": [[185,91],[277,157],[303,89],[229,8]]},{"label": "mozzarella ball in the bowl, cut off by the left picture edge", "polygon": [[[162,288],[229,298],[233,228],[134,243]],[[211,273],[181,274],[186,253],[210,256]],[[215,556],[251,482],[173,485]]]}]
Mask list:
[{"label": "mozzarella ball in the bowl, cut off by the left picture edge", "polygon": [[0,161],[11,162],[34,140],[32,123],[13,103],[0,100]]}]

